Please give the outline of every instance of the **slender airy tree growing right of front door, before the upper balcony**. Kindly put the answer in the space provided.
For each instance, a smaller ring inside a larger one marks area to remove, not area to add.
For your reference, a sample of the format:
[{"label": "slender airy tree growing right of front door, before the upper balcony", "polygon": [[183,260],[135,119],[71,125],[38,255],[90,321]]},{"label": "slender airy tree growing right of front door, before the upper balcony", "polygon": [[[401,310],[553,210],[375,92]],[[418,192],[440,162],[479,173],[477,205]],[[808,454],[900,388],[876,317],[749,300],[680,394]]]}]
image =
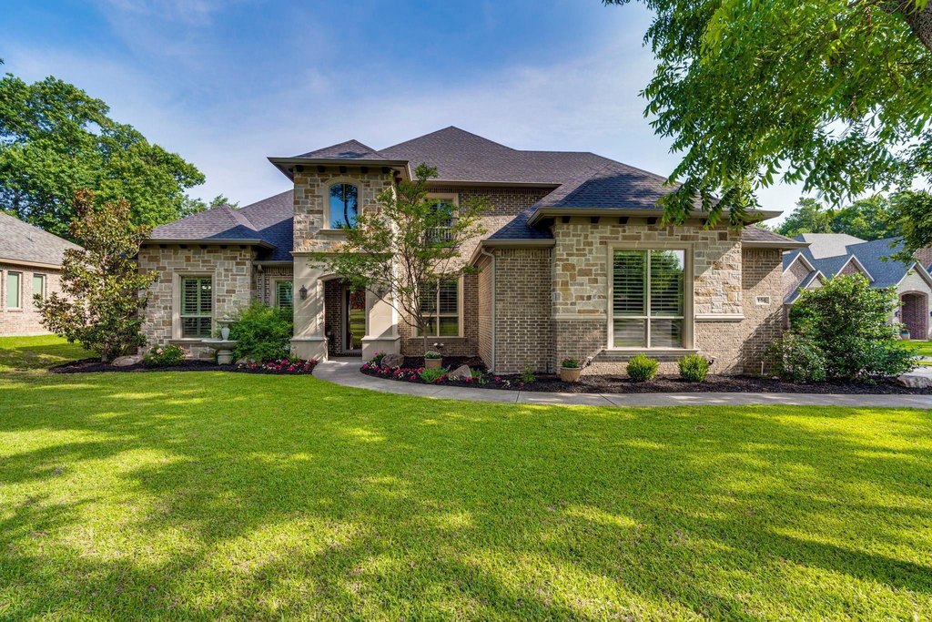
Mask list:
[{"label": "slender airy tree growing right of front door, before the upper balcony", "polygon": [[318,253],[313,261],[333,270],[352,286],[385,300],[418,330],[427,352],[428,316],[424,296],[438,283],[474,272],[459,246],[486,232],[480,216],[486,199],[454,208],[428,197],[437,176],[421,164],[411,181],[402,181],[377,197],[377,209],[362,210],[356,226],[345,228],[346,242],[336,252]]}]

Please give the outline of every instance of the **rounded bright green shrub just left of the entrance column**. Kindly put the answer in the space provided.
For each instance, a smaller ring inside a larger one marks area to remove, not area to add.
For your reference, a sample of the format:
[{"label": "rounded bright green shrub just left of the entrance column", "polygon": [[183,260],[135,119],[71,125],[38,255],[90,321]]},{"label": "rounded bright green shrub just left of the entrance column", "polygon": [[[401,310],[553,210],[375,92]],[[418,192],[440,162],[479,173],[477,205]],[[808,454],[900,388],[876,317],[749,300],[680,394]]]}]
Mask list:
[{"label": "rounded bright green shrub just left of the entrance column", "polygon": [[288,356],[292,338],[292,311],[254,302],[237,311],[230,339],[238,341],[234,360],[274,361]]}]

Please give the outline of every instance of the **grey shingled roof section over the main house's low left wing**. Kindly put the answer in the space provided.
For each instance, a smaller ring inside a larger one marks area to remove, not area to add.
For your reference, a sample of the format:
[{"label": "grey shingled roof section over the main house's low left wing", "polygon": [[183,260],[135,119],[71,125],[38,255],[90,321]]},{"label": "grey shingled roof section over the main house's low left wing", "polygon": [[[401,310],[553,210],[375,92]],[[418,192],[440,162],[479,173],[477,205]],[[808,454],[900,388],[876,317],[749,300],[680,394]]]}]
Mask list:
[{"label": "grey shingled roof section over the main house's low left wing", "polygon": [[292,191],[240,209],[226,205],[193,214],[152,231],[151,242],[249,242],[272,249],[272,261],[290,261],[295,206]]}]

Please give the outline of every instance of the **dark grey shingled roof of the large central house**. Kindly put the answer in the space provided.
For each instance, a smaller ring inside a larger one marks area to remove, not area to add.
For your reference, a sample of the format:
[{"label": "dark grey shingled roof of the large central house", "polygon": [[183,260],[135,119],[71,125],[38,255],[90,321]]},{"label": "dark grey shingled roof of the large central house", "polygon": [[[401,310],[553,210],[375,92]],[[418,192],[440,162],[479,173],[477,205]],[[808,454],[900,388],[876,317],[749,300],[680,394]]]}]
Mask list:
[{"label": "dark grey shingled roof of the large central house", "polygon": [[[270,160],[282,173],[301,160],[326,163],[332,160],[382,160],[413,169],[420,163],[436,167],[434,185],[502,184],[543,187],[550,192],[531,208],[518,214],[494,231],[489,240],[528,241],[550,238],[548,231],[536,228],[535,217],[541,210],[657,210],[657,201],[675,187],[667,186],[665,177],[648,173],[612,159],[586,151],[525,151],[501,145],[469,131],[450,126],[432,131],[404,143],[373,149],[357,140],[349,140],[308,151],[294,158]],[[287,194],[287,200],[285,195]],[[286,204],[287,203],[287,204]],[[274,222],[260,223],[266,211]],[[285,212],[287,211],[287,214]],[[240,220],[238,217],[242,216]],[[276,247],[275,257],[286,257],[291,249],[291,193],[261,200],[241,210],[217,208],[185,220],[159,227],[156,239],[229,239],[234,236],[257,239]],[[766,232],[754,234],[765,235]],[[774,234],[775,235],[775,234]],[[781,242],[782,241],[782,242]],[[281,244],[288,243],[286,249]],[[795,242],[777,236],[770,242],[792,247]]]}]

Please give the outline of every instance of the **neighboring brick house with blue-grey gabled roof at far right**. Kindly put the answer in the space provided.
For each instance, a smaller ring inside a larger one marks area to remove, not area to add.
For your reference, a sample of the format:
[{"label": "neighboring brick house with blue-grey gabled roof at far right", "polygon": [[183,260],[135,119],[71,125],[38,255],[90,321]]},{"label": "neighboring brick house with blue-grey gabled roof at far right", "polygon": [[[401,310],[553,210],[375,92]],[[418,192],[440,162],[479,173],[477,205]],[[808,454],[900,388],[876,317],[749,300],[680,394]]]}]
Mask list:
[{"label": "neighboring brick house with blue-grey gabled roof at far right", "polygon": [[821,287],[839,274],[862,274],[871,287],[895,287],[900,301],[891,322],[901,322],[911,339],[928,339],[932,249],[922,249],[908,263],[889,257],[902,249],[896,239],[866,242],[844,233],[802,233],[796,238],[808,244],[783,256],[784,303],[787,309],[802,290]]}]

